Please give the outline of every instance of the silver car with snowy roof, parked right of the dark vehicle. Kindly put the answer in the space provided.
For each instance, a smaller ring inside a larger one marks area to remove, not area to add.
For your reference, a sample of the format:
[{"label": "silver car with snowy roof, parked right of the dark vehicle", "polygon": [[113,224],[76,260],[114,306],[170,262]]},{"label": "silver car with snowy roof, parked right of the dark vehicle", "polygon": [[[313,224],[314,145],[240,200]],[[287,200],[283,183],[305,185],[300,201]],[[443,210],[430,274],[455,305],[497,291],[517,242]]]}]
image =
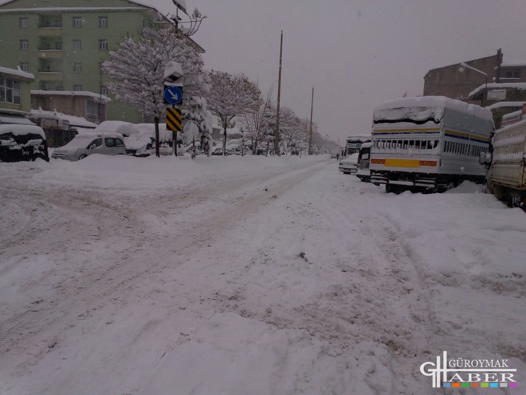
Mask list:
[{"label": "silver car with snowy roof, parked right of the dark vehicle", "polygon": [[51,157],[74,162],[91,154],[126,155],[123,135],[120,133],[79,133],[72,141],[53,151]]}]

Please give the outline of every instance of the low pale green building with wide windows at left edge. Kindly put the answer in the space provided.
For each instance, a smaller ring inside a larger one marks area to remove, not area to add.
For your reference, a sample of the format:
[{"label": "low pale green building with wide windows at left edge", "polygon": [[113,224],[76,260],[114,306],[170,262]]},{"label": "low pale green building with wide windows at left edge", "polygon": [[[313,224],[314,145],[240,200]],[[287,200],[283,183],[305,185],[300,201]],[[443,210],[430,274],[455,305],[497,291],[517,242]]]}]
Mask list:
[{"label": "low pale green building with wide windows at left edge", "polygon": [[31,112],[33,74],[18,69],[0,67],[0,124],[33,125],[25,116]]}]

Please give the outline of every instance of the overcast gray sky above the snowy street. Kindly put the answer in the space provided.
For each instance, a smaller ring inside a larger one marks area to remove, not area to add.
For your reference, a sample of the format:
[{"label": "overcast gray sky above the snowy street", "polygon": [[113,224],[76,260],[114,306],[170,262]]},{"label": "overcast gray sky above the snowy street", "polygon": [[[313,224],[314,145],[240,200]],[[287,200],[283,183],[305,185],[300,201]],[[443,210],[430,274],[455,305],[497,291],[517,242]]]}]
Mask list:
[{"label": "overcast gray sky above the snowy street", "polygon": [[[171,0],[149,0],[165,9]],[[193,37],[206,68],[242,72],[340,142],[369,133],[374,107],[420,95],[428,70],[490,56],[526,61],[524,0],[186,0],[207,15]],[[483,77],[481,77],[483,79]],[[288,84],[287,84],[288,82]],[[483,81],[481,81],[481,84]],[[289,87],[290,85],[290,87]]]}]

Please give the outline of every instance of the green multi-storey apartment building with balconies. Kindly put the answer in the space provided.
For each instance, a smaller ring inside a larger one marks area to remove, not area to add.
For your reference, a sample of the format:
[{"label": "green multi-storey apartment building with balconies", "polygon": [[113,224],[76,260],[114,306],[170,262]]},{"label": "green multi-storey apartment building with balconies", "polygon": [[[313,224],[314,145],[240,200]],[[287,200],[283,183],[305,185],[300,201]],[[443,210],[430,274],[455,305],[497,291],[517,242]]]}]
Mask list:
[{"label": "green multi-storey apartment building with balconies", "polygon": [[[106,95],[101,79],[104,83],[108,78],[100,74],[100,64],[108,51],[117,49],[127,35],[154,28],[158,17],[144,1],[4,0],[0,66],[34,74],[32,90]],[[113,97],[105,112],[106,120],[143,122],[135,107]]]}]

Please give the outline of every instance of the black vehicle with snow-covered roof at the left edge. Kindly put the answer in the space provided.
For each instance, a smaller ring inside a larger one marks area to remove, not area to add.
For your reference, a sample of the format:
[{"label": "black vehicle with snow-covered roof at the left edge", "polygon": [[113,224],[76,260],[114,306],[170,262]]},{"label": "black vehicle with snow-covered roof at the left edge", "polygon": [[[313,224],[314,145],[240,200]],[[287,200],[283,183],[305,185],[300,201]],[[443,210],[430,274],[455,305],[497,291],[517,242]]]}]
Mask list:
[{"label": "black vehicle with snow-covered roof at the left edge", "polygon": [[34,161],[49,162],[46,135],[34,125],[0,125],[0,162]]}]

